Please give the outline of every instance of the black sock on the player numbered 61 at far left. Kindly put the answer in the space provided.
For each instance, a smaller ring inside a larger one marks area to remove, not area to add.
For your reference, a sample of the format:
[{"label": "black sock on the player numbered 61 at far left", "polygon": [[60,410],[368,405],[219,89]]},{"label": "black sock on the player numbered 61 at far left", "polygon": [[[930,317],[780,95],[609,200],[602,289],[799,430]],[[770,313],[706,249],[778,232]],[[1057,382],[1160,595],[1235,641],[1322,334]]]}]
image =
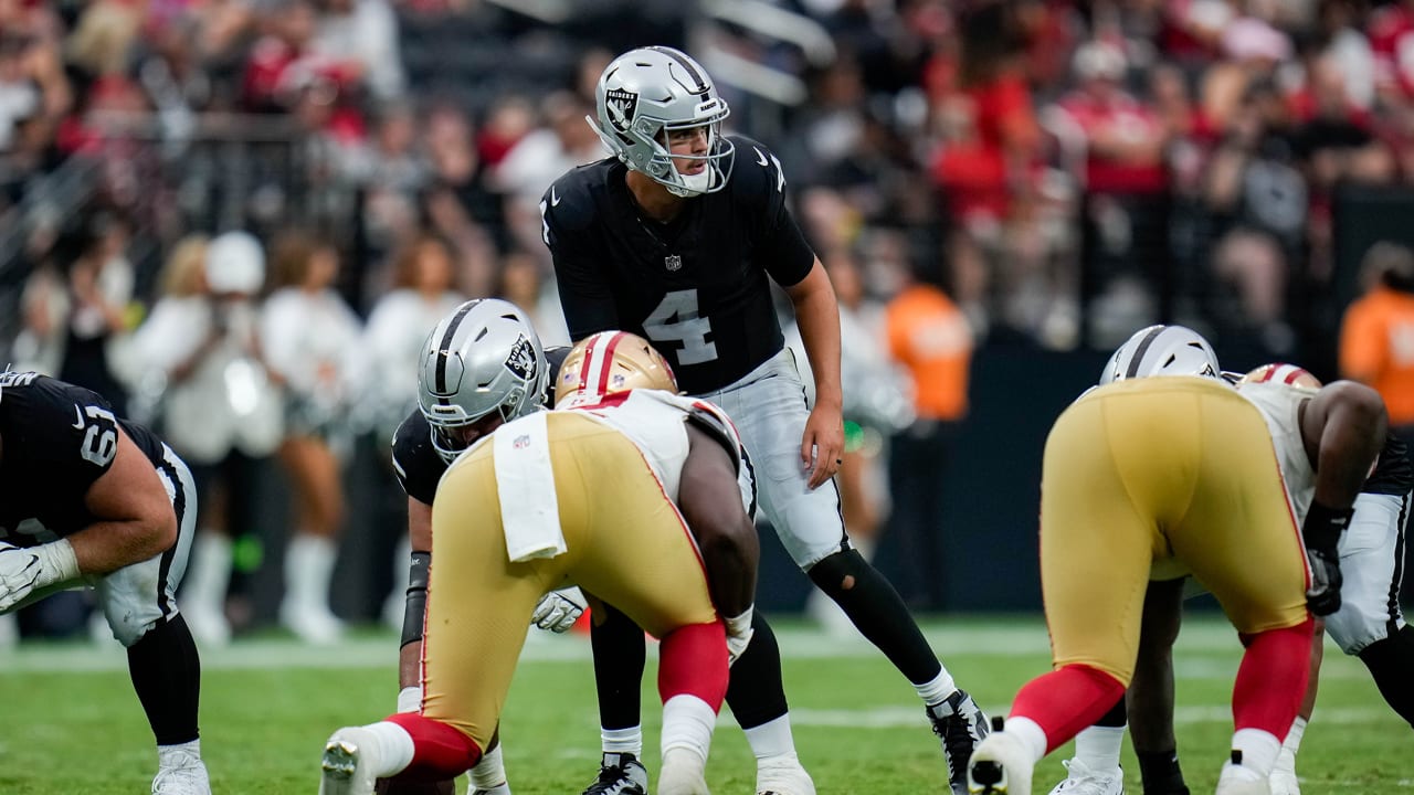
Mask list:
[{"label": "black sock on the player numbered 61 at far left", "polygon": [[178,745],[198,737],[201,658],[180,613],[127,648],[127,672],[158,745]]}]

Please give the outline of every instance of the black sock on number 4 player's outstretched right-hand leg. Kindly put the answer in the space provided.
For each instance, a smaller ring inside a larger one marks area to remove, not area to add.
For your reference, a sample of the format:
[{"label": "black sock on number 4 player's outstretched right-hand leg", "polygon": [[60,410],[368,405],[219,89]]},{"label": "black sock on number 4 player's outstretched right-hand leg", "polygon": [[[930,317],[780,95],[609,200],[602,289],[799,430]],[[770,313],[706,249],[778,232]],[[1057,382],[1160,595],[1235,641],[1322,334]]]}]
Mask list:
[{"label": "black sock on number 4 player's outstretched right-hand leg", "polygon": [[858,550],[837,552],[810,567],[810,580],[913,685],[943,671],[894,586]]}]

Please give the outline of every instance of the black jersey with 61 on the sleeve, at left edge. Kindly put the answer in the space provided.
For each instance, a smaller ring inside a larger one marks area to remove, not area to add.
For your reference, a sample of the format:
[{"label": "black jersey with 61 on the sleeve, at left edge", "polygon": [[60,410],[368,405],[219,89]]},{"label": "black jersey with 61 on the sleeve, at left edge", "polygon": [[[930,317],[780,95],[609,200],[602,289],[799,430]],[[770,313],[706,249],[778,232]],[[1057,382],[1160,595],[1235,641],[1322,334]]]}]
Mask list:
[{"label": "black jersey with 61 on the sleeve, at left edge", "polygon": [[116,417],[99,393],[33,372],[0,375],[0,539],[35,546],[93,523],[83,497],[113,465],[119,429],[163,465],[161,440]]}]

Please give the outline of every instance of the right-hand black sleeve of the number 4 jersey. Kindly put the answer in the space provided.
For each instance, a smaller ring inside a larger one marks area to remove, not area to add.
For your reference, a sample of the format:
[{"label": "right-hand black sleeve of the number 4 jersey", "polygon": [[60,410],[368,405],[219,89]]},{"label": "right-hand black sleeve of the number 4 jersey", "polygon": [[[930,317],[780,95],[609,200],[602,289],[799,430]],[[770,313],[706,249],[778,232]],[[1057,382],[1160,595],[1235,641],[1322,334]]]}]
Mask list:
[{"label": "right-hand black sleeve of the number 4 jersey", "polygon": [[797,284],[814,266],[814,250],[786,207],[786,175],[781,160],[751,139],[734,139],[732,143],[737,160],[731,180],[752,215],[749,229],[755,260],[776,284]]}]

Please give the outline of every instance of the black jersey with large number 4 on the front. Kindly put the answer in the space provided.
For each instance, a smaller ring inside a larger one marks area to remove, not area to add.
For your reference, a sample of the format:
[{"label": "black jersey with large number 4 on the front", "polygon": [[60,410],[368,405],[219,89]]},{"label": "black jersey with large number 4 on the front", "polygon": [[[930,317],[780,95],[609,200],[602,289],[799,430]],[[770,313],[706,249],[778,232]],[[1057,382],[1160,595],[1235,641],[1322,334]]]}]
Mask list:
[{"label": "black jersey with large number 4 on the front", "polygon": [[727,386],[783,347],[768,277],[810,273],[814,252],[786,208],[771,151],[731,136],[727,187],[686,202],[669,224],[642,216],[605,158],[560,177],[540,202],[570,338],[632,331],[667,356],[690,395]]}]

